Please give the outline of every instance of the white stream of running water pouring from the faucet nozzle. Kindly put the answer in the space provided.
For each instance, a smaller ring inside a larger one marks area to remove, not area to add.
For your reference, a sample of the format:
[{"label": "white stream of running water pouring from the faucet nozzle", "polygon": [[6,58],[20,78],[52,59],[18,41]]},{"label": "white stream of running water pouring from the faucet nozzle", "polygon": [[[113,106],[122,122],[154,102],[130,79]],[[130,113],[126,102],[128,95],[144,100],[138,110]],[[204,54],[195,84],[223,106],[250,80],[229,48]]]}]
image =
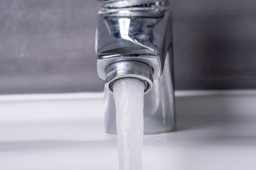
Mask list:
[{"label": "white stream of running water pouring from the faucet nozzle", "polygon": [[143,81],[136,78],[123,78],[113,84],[119,170],[142,170],[144,89]]}]

